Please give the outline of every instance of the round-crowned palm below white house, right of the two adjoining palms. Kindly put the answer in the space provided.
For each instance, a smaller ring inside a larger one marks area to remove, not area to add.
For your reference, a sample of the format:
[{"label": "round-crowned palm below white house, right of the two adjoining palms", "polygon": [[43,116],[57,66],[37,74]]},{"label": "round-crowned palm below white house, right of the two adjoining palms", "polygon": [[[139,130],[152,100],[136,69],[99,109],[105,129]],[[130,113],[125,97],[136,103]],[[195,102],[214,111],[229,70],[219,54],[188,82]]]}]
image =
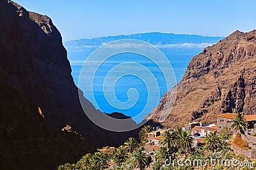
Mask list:
[{"label": "round-crowned palm below white house, right of the two adjoining palms", "polygon": [[210,132],[208,136],[205,137],[205,147],[212,150],[212,153],[214,150],[217,150],[221,147],[221,138],[217,136],[216,132]]}]

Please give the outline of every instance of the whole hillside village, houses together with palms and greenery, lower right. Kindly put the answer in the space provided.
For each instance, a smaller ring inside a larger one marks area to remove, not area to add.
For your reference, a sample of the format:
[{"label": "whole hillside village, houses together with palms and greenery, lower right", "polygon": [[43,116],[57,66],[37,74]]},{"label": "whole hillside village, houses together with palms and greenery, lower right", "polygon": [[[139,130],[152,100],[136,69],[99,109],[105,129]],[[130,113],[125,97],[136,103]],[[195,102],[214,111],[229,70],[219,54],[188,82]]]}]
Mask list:
[{"label": "whole hillside village, houses together with palms and greenery, lower right", "polygon": [[[216,118],[216,124],[190,122],[177,129],[146,125],[139,136],[140,142],[130,137],[118,148],[99,148],[93,154],[86,153],[76,164],[66,163],[58,169],[81,166],[113,170],[256,168],[256,114],[223,113]],[[218,164],[209,162],[217,159]]]}]

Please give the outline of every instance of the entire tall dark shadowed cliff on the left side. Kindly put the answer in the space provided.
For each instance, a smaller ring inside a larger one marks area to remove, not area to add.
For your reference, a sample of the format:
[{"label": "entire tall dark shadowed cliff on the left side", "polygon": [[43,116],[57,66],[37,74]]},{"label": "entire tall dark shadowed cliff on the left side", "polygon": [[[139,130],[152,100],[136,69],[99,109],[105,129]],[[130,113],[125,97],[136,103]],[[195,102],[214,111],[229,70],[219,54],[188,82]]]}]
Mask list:
[{"label": "entire tall dark shadowed cliff on the left side", "polygon": [[[0,60],[0,169],[54,169],[76,162],[90,151],[88,143],[118,146],[138,138],[138,129],[109,132],[86,117],[61,34],[49,17],[1,0]],[[86,111],[103,114],[82,102]],[[65,131],[67,125],[72,130]]]}]

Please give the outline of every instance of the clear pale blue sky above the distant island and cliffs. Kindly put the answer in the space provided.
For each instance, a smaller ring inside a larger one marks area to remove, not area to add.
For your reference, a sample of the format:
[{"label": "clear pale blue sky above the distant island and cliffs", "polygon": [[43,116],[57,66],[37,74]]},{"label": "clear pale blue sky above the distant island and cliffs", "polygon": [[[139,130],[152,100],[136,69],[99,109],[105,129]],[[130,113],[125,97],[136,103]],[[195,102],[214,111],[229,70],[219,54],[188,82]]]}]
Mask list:
[{"label": "clear pale blue sky above the distant island and cliffs", "polygon": [[256,28],[255,0],[14,0],[48,15],[63,41],[141,32],[228,36]]}]

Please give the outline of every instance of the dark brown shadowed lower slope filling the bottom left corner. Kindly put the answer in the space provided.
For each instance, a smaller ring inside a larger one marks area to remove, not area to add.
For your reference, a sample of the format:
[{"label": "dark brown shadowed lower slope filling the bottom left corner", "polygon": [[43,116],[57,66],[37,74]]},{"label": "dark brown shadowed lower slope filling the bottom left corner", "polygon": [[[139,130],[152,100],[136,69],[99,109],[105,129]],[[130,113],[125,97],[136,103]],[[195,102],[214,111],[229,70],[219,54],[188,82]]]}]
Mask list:
[{"label": "dark brown shadowed lower slope filling the bottom left corner", "polygon": [[54,131],[40,108],[13,87],[0,85],[1,169],[55,169],[92,151],[75,132]]}]

